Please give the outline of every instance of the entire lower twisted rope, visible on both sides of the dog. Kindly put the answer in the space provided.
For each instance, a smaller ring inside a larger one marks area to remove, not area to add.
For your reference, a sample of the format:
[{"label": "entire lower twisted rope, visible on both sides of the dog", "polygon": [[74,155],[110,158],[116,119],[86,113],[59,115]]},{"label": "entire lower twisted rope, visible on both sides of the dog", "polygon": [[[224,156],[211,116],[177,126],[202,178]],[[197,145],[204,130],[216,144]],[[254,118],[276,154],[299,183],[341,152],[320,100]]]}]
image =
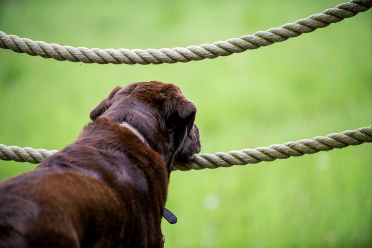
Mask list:
[{"label": "entire lower twisted rope, visible on both sides of the dog", "polygon": [[[176,164],[174,170],[189,171],[202,170],[205,168],[215,169],[218,167],[231,167],[233,165],[257,164],[261,161],[274,161],[291,156],[314,154],[320,151],[329,151],[334,148],[344,148],[349,145],[360,145],[364,142],[372,142],[372,125],[369,127],[361,127],[356,130],[347,130],[342,133],[329,134],[325,137],[318,136],[311,140],[287,142],[282,145],[270,145],[269,147],[244,149],[228,153],[202,154],[200,156],[195,156],[194,161],[189,164]],[[8,147],[0,144],[1,160],[14,160],[17,162],[36,164],[57,152],[57,150],[34,150],[29,147]]]}]

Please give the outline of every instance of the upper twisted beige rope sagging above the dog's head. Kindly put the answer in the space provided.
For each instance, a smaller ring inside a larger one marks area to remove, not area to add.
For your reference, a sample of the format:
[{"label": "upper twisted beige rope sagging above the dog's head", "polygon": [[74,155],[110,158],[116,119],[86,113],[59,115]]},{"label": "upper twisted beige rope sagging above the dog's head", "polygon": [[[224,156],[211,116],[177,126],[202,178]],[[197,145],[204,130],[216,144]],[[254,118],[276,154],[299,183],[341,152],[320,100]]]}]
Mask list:
[{"label": "upper twisted beige rope sagging above the dog's head", "polygon": [[226,41],[217,41],[212,44],[200,46],[174,47],[161,49],[99,49],[86,47],[70,47],[58,44],[47,44],[43,41],[32,41],[27,38],[19,38],[16,35],[7,35],[0,31],[0,47],[11,49],[19,53],[27,53],[32,56],[39,55],[43,58],[53,58],[58,61],[99,63],[99,64],[161,64],[175,62],[189,62],[203,59],[214,59],[218,56],[228,56],[235,52],[244,52],[248,49],[257,49],[269,46],[275,42],[285,41],[288,38],[297,37],[302,33],[324,28],[331,23],[336,23],[344,18],[355,16],[372,7],[372,0],[351,0],[342,3],[335,8],[326,9],[321,14],[311,15],[305,19],[299,19],[294,23],[287,23],[279,28],[271,28],[267,31],[258,31],[253,35],[244,35]]}]

